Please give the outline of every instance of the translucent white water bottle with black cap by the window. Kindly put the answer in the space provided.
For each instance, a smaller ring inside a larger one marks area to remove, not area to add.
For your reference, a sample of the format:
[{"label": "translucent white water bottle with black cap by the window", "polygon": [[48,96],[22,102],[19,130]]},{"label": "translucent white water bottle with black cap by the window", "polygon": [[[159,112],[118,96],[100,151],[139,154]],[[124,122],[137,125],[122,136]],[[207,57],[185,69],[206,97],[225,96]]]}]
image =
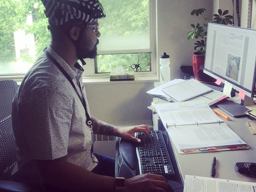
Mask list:
[{"label": "translucent white water bottle with black cap by the window", "polygon": [[170,77],[170,57],[164,52],[160,56],[160,83],[167,83],[171,80]]}]

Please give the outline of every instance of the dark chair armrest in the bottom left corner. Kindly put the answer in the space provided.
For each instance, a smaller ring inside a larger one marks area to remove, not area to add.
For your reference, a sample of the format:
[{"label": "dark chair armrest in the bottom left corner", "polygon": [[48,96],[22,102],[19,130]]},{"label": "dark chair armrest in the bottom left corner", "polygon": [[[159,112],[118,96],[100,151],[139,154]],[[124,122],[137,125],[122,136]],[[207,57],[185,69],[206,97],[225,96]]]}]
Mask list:
[{"label": "dark chair armrest in the bottom left corner", "polygon": [[38,188],[35,186],[24,184],[21,182],[0,180],[1,192],[36,192]]}]

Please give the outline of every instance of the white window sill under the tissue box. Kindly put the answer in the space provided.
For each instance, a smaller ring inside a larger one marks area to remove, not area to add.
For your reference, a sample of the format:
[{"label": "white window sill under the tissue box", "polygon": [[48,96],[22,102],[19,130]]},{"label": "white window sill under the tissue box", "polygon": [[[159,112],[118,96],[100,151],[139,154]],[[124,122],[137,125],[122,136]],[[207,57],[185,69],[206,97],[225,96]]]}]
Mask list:
[{"label": "white window sill under the tissue box", "polygon": [[128,83],[150,83],[158,82],[157,76],[139,76],[135,77],[132,81],[110,81],[109,76],[95,78],[95,77],[83,77],[84,84],[128,84]]}]

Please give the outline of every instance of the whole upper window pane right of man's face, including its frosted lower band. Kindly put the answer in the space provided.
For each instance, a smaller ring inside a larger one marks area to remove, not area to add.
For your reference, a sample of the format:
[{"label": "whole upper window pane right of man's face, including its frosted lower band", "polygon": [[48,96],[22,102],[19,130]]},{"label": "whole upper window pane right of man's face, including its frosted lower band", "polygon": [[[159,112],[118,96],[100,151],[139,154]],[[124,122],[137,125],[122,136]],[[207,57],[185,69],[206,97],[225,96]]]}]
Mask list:
[{"label": "whole upper window pane right of man's face, including its frosted lower band", "polygon": [[101,0],[98,54],[151,52],[150,1]]}]

